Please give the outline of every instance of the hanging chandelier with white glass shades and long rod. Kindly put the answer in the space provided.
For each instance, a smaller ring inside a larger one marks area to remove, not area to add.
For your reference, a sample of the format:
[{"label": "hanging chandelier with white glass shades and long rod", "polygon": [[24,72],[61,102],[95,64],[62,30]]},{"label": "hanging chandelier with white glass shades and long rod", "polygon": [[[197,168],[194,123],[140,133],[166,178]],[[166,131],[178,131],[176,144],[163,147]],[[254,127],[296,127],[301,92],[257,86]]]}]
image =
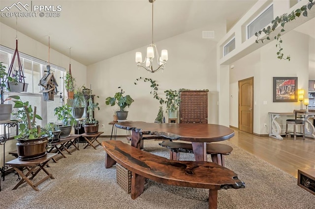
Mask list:
[{"label": "hanging chandelier with white glass shades and long rod", "polygon": [[[164,69],[166,65],[166,61],[168,60],[167,50],[161,51],[161,56],[158,55],[157,45],[153,43],[153,2],[155,0],[149,0],[152,3],[152,44],[150,47],[147,48],[147,56],[145,60],[142,62],[142,53],[136,52],[136,63],[138,68],[143,67],[147,71],[154,73],[157,72],[159,69]],[[156,70],[153,69],[153,59],[157,58],[158,68]]]}]

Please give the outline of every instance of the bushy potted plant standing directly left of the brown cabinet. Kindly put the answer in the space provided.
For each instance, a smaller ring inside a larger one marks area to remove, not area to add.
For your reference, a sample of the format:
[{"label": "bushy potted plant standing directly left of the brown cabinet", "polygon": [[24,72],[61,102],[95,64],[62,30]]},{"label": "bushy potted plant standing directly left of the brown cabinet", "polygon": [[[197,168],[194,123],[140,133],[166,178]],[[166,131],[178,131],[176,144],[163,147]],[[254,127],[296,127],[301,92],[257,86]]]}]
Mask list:
[{"label": "bushy potted plant standing directly left of the brown cabinet", "polygon": [[181,102],[179,92],[176,90],[166,90],[166,112],[168,112],[168,118],[177,118],[179,104]]}]

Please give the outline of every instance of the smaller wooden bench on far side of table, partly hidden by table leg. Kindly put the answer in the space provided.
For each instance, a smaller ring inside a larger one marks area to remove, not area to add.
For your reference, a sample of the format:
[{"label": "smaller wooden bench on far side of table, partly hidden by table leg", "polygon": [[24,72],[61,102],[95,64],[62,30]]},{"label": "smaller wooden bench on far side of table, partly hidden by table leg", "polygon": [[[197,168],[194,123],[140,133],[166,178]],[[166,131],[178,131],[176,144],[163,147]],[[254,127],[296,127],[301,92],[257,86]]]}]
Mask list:
[{"label": "smaller wooden bench on far side of table, partly hidden by table leg", "polygon": [[[192,145],[189,143],[163,141],[158,143],[162,147],[168,148],[169,158],[179,160],[180,153],[192,153]],[[224,155],[229,155],[233,151],[231,146],[219,143],[207,143],[207,154],[211,155],[212,162],[225,166]]]}]

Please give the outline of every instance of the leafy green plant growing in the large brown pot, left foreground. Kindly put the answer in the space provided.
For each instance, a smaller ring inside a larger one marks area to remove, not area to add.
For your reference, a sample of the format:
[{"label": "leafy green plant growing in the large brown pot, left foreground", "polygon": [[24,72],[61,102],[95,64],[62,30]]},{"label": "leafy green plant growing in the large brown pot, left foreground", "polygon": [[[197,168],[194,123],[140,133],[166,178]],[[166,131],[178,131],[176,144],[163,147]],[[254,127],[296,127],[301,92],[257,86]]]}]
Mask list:
[{"label": "leafy green plant growing in the large brown pot, left foreground", "polygon": [[27,102],[22,102],[19,96],[10,96],[10,98],[15,99],[14,108],[18,108],[16,113],[13,115],[17,119],[21,119],[22,123],[19,124],[19,134],[14,138],[18,139],[36,139],[40,138],[43,135],[46,135],[46,131],[36,127],[35,119],[42,120],[42,118],[36,114],[36,106],[34,106],[34,110],[32,109],[32,105]]}]

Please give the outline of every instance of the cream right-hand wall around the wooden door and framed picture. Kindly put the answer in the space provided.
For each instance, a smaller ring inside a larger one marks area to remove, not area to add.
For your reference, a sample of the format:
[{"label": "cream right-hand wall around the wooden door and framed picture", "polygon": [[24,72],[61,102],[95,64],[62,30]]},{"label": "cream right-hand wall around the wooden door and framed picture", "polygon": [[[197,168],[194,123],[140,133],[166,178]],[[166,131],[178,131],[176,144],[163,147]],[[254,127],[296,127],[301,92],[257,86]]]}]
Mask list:
[{"label": "cream right-hand wall around the wooden door and framed picture", "polygon": [[[308,89],[309,36],[296,31],[283,36],[284,53],[290,54],[291,61],[277,58],[275,44],[275,41],[270,42],[233,63],[234,69],[230,70],[230,95],[233,95],[230,98],[231,126],[238,127],[238,80],[241,79],[254,77],[254,133],[269,132],[268,112],[291,112],[300,108],[300,102],[273,102],[273,77],[298,77],[297,89]],[[268,130],[263,127],[264,123],[267,123]]]}]

